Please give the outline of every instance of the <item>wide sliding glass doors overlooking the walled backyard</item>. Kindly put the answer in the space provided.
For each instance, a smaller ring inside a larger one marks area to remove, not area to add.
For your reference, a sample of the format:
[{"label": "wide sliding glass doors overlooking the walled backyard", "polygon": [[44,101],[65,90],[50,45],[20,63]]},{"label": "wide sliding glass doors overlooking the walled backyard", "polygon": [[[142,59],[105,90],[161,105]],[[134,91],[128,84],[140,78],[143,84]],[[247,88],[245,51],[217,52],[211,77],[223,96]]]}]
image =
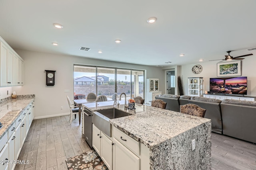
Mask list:
[{"label": "wide sliding glass doors overlooking the walled backyard", "polygon": [[91,92],[108,98],[114,93],[144,98],[144,70],[74,65],[74,99]]}]

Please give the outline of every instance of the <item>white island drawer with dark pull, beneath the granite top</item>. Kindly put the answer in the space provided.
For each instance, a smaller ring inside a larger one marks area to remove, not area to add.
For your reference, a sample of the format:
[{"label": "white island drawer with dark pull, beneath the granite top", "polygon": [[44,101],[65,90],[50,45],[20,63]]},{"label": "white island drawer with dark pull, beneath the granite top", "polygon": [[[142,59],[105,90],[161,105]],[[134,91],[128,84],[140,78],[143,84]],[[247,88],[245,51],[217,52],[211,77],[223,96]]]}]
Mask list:
[{"label": "white island drawer with dark pull, beneath the granite top", "polygon": [[113,128],[113,137],[137,155],[140,155],[140,143],[116,127]]}]

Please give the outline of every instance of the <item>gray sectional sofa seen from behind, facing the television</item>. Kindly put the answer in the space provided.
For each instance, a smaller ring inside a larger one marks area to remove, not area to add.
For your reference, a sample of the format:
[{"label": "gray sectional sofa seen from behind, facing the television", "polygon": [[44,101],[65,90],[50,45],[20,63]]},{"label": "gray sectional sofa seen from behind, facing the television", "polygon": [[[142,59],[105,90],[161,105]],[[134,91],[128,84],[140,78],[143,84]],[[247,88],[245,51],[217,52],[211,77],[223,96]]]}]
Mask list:
[{"label": "gray sectional sofa seen from behind, facing the television", "polygon": [[161,94],[166,109],[180,111],[180,105],[196,104],[206,109],[205,118],[212,120],[212,131],[256,143],[256,102],[218,100],[204,97]]}]

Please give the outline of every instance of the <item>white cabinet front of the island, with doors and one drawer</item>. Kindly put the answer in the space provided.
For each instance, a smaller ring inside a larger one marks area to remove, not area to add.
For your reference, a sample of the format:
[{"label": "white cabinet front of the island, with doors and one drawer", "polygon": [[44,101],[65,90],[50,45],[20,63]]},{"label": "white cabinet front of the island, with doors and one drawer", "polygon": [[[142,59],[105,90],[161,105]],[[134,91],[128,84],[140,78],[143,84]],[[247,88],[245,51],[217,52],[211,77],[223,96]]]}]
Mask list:
[{"label": "white cabinet front of the island, with doors and one drawer", "polygon": [[108,137],[92,125],[92,147],[109,170],[149,170],[150,150],[112,126]]}]

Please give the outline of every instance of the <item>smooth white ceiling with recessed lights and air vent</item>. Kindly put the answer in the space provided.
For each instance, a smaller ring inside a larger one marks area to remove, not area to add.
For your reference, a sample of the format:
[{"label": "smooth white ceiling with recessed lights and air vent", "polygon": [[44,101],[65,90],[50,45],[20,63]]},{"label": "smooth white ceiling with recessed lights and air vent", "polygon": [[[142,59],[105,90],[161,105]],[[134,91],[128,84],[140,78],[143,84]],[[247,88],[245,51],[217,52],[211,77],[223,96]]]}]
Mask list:
[{"label": "smooth white ceiling with recessed lights and air vent", "polygon": [[0,36],[14,49],[183,65],[224,59],[229,50],[255,57],[246,50],[256,47],[255,17],[256,0],[0,0]]}]

